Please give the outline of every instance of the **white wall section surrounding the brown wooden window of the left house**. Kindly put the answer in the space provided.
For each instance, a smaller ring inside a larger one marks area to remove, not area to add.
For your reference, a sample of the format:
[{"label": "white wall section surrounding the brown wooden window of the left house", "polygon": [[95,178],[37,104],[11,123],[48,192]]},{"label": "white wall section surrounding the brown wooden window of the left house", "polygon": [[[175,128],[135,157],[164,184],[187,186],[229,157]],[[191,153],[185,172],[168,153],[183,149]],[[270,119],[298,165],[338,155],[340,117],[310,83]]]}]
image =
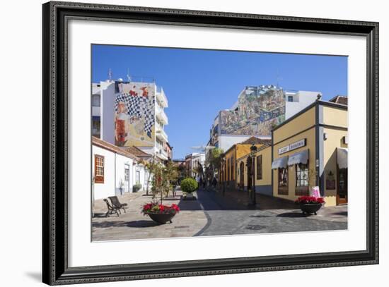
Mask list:
[{"label": "white wall section surrounding the brown wooden window of the left house", "polygon": [[[92,173],[95,174],[95,154],[104,157],[104,183],[93,185],[95,200],[115,195],[115,153],[101,147],[92,146]],[[88,192],[86,190],[85,192]]]}]

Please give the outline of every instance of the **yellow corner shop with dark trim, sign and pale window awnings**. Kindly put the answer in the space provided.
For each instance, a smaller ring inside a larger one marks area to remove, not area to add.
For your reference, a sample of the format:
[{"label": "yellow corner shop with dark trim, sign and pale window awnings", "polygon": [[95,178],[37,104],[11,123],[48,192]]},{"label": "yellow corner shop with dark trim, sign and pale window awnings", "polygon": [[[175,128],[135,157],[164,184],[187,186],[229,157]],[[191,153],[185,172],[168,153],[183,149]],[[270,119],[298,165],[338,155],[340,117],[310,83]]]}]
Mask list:
[{"label": "yellow corner shop with dark trim, sign and pale window awnings", "polygon": [[327,206],[347,203],[347,121],[346,105],[318,100],[272,130],[275,197],[318,186]]}]

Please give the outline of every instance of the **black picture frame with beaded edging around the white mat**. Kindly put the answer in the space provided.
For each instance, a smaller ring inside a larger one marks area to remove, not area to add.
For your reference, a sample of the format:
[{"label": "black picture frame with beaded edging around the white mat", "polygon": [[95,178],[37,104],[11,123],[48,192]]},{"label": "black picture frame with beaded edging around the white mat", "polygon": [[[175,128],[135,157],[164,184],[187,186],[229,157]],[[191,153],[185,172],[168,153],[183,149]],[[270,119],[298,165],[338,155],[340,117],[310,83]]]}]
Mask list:
[{"label": "black picture frame with beaded edging around the white mat", "polygon": [[[42,280],[44,283],[59,285],[378,264],[378,23],[56,1],[42,5],[42,16]],[[366,37],[366,250],[68,267],[66,25],[69,19],[74,18]]]}]

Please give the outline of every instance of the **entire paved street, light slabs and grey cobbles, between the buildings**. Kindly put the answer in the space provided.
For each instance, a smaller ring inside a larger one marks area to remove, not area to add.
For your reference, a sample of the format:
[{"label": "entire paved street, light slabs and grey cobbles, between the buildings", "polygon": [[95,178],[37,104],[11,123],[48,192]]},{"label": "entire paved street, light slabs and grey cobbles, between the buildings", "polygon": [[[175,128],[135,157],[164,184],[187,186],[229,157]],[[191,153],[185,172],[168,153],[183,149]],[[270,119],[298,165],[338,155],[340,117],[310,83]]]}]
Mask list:
[{"label": "entire paved street, light slabs and grey cobbles, between the buildings", "polygon": [[126,213],[103,216],[103,200],[96,200],[93,218],[93,240],[127,240],[189,236],[221,236],[248,233],[279,233],[347,229],[347,205],[322,207],[318,215],[303,216],[291,202],[258,196],[257,209],[248,209],[231,197],[215,191],[199,190],[197,200],[182,200],[182,193],[164,200],[178,204],[181,212],[173,223],[157,225],[141,214],[150,196],[138,193],[120,197],[129,204]]}]

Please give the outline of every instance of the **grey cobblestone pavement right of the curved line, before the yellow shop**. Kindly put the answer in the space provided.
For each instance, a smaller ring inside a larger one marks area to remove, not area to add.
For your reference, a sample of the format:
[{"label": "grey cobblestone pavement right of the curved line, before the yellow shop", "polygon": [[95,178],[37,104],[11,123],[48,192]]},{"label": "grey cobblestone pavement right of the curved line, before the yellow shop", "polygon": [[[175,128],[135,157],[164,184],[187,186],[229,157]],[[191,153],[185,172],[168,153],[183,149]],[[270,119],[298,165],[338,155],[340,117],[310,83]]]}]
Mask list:
[{"label": "grey cobblestone pavement right of the curved line, before the yellow shop", "polygon": [[[290,202],[285,202],[287,208],[279,208],[282,202],[277,202],[274,204],[277,209],[272,209],[272,197],[260,197],[258,210],[244,206],[233,208],[231,200],[215,192],[203,190],[198,196],[208,222],[196,236],[347,229],[347,206],[322,207],[318,215],[304,216]],[[261,204],[261,201],[266,204]]]}]

